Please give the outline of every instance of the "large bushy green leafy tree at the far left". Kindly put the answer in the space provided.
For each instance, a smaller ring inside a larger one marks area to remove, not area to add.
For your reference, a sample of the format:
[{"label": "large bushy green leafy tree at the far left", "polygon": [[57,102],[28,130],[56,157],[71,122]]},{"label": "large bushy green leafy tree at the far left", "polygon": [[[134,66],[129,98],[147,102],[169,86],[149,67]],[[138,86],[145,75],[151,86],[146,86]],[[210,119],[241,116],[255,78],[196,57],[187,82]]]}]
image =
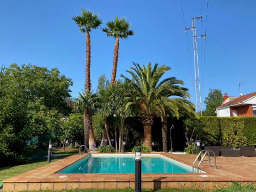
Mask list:
[{"label": "large bushy green leafy tree at the far left", "polygon": [[[35,148],[28,141],[49,133],[50,126],[45,125],[52,122],[45,121],[45,116],[51,111],[68,114],[66,98],[70,97],[72,81],[60,75],[57,68],[49,70],[30,64],[2,67],[0,80],[0,140],[4,140],[0,161],[3,162],[2,158],[4,164],[27,161]],[[54,119],[59,121],[56,116]]]}]

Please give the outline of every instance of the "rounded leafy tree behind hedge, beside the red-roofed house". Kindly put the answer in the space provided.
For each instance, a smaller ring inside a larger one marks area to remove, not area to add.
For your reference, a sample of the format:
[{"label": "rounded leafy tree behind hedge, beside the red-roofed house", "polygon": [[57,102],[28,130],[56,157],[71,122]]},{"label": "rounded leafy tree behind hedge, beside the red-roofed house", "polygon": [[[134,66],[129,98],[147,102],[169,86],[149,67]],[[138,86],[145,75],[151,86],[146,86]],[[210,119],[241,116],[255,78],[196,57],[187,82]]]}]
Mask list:
[{"label": "rounded leafy tree behind hedge, beside the red-roofed house", "polygon": [[223,97],[220,89],[209,89],[208,97],[205,97],[204,104],[206,109],[204,116],[216,116],[216,108],[223,103]]}]

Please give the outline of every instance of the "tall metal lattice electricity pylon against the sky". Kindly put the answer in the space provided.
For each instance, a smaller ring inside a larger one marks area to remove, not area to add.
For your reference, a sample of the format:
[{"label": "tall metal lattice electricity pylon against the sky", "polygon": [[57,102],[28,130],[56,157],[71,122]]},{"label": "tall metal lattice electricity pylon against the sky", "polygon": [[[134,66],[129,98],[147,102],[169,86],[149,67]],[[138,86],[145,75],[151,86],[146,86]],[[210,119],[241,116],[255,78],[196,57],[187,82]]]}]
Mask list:
[{"label": "tall metal lattice electricity pylon against the sky", "polygon": [[197,113],[201,113],[201,116],[203,116],[196,39],[197,38],[202,38],[202,37],[204,37],[204,39],[206,39],[206,34],[196,36],[196,20],[199,20],[199,19],[201,21],[203,21],[202,15],[200,17],[192,18],[192,27],[191,28],[186,28],[185,27],[185,31],[186,31],[186,33],[188,32],[188,30],[192,30],[193,31],[195,87],[196,87],[196,112]]}]

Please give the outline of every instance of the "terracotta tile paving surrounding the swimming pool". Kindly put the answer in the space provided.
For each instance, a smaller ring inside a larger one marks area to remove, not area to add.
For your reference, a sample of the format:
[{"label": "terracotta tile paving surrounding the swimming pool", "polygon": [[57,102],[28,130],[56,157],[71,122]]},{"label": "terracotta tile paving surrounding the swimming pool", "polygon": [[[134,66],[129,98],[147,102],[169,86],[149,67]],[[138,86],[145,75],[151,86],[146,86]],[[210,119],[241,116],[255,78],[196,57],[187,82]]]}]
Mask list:
[{"label": "terracotta tile paving surrounding the swimming pool", "polygon": [[[109,153],[108,153],[109,154]],[[116,154],[116,153],[113,153]],[[131,153],[119,153],[131,154]],[[152,154],[152,153],[151,153]],[[196,155],[160,154],[192,166]],[[55,173],[78,161],[88,154],[68,156],[59,161],[44,165],[29,172],[2,181],[3,191],[60,190],[82,188],[134,188],[134,173]],[[205,158],[205,159],[208,159]],[[214,158],[211,167],[208,161],[202,162],[200,169],[207,173],[142,173],[142,188],[201,188],[211,190],[228,186],[232,181],[256,186],[256,157],[217,156],[217,169]],[[196,165],[198,162],[196,162]],[[60,178],[59,176],[67,177]]]}]

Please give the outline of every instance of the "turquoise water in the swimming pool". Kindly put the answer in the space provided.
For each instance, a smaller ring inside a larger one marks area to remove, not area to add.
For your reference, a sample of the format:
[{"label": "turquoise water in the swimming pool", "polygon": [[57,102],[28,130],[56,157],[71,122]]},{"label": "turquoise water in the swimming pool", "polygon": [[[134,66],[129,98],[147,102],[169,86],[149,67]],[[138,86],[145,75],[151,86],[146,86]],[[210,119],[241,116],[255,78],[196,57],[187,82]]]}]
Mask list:
[{"label": "turquoise water in the swimming pool", "polygon": [[[69,165],[57,173],[134,173],[134,157],[93,157]],[[185,168],[160,157],[142,157],[142,173],[188,173]]]}]

